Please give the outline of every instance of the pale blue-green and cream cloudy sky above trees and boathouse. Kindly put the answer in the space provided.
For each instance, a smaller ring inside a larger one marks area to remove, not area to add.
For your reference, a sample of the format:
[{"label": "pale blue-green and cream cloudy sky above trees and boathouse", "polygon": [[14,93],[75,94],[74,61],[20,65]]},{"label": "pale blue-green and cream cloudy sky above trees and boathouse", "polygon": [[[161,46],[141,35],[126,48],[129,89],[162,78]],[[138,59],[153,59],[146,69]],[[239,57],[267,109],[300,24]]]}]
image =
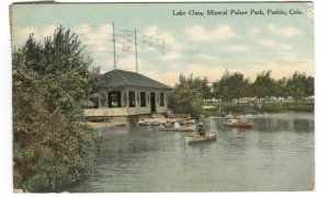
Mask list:
[{"label": "pale blue-green and cream cloudy sky above trees and boathouse", "polygon": [[[207,10],[227,14],[207,15]],[[248,13],[230,14],[231,10]],[[286,14],[268,14],[269,10]],[[180,11],[185,15],[173,14]],[[114,69],[113,23],[116,69],[136,71],[136,30],[138,72],[171,86],[180,73],[211,82],[226,70],[251,81],[263,70],[271,70],[275,79],[295,71],[314,75],[309,2],[14,4],[12,46],[23,45],[31,33],[43,40],[63,25],[79,35],[93,66],[104,73]]]}]

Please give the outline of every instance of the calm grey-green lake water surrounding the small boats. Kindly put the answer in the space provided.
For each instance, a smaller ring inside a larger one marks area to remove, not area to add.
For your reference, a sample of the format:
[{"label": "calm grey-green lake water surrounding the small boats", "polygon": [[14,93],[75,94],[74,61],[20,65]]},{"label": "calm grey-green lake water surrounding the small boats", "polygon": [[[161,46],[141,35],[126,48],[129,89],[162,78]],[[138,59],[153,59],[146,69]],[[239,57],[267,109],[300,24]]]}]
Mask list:
[{"label": "calm grey-green lake water surrounding the small boats", "polygon": [[313,114],[246,116],[251,129],[202,120],[217,139],[186,144],[191,132],[117,127],[101,132],[97,173],[65,189],[112,191],[311,190],[315,177]]}]

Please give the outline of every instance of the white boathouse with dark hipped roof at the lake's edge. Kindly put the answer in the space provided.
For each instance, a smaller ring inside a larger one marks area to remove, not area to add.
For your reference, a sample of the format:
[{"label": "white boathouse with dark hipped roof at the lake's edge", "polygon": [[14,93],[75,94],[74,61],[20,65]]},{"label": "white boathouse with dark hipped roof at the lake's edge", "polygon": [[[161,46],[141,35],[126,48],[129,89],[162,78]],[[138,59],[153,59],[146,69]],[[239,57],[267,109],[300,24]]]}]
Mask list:
[{"label": "white boathouse with dark hipped roof at the lake's edge", "polygon": [[[114,69],[98,78],[101,94],[87,117],[134,118],[167,114],[170,86],[137,72]],[[128,119],[127,119],[128,120]]]}]

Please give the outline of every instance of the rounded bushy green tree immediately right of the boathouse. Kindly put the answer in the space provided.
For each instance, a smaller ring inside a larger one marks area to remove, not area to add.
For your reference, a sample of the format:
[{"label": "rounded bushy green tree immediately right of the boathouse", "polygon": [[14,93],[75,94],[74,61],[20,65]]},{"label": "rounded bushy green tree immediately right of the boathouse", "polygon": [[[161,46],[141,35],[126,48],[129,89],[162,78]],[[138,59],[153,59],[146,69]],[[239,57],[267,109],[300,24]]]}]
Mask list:
[{"label": "rounded bushy green tree immediately right of the boathouse", "polygon": [[179,83],[169,95],[169,107],[177,114],[191,114],[193,117],[198,117],[205,96],[203,95],[204,80],[194,79],[192,74],[189,78],[180,74]]}]

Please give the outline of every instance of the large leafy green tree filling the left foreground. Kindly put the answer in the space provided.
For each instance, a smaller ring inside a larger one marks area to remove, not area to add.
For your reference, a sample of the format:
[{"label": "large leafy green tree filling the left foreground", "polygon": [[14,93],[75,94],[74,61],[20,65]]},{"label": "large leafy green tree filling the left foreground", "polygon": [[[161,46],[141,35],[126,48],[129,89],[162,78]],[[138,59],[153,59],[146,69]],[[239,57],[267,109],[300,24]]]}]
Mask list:
[{"label": "large leafy green tree filling the left foreground", "polygon": [[43,43],[30,35],[13,51],[15,188],[33,190],[37,183],[55,190],[90,170],[84,158],[99,137],[87,127],[83,107],[98,92],[98,69],[83,51],[78,36],[61,26]]}]

